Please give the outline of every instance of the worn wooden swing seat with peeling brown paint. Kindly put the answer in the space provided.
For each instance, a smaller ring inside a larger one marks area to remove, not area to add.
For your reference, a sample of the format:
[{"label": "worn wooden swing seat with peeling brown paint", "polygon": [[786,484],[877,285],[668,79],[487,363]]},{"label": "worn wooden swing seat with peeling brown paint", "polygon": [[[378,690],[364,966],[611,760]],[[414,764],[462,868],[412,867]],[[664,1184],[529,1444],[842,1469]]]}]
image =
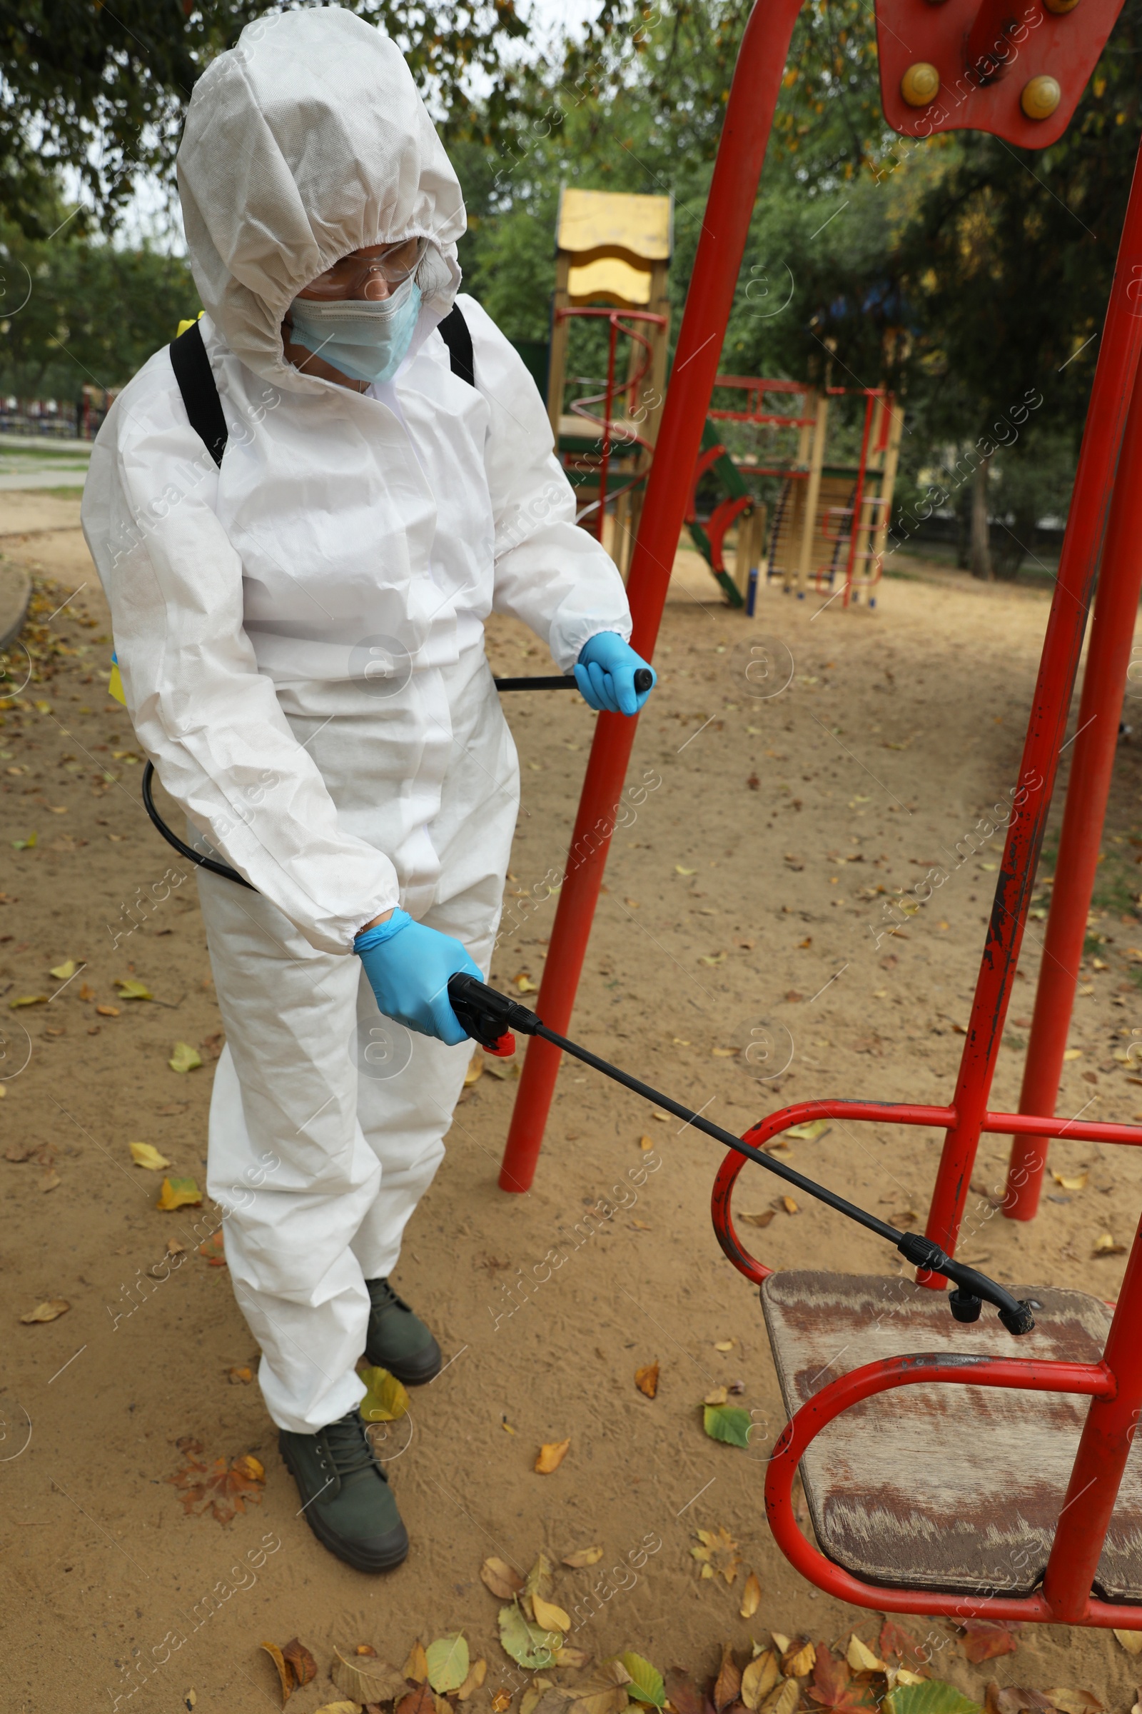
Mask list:
[{"label": "worn wooden swing seat with peeling brown paint", "polygon": [[[1012,1291],[1039,1306],[1020,1357],[1101,1361],[1111,1323],[1104,1303],[1053,1287]],[[904,1279],[782,1272],[764,1280],[760,1296],[789,1416],[865,1363],[902,1351],[990,1356],[1005,1339],[993,1318],[959,1325],[942,1292]],[[1043,1580],[1087,1409],[1075,1393],[940,1383],[849,1405],[800,1462],[822,1553],[895,1589],[1029,1596]],[[1096,1589],[1142,1603],[1137,1447]]]}]

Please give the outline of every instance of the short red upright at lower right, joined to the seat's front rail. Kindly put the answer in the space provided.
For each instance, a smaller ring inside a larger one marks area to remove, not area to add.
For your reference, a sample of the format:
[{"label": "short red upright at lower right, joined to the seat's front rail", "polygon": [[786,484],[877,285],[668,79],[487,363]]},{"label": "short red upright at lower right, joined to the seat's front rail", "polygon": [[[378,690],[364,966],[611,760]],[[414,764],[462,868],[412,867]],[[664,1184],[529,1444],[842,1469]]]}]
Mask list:
[{"label": "short red upright at lower right, joined to the seat's front rail", "polygon": [[1139,1351],[1142,1244],[1139,1232],[1133,1238],[1115,1320],[1103,1352],[1103,1366],[1115,1376],[1116,1390],[1109,1399],[1096,1397],[1091,1400],[1067,1484],[1067,1500],[1055,1531],[1051,1558],[1046,1561],[1043,1577],[1046,1603],[1055,1618],[1065,1625],[1082,1625],[1087,1618],[1091,1584],[1142,1412],[1142,1352]]}]

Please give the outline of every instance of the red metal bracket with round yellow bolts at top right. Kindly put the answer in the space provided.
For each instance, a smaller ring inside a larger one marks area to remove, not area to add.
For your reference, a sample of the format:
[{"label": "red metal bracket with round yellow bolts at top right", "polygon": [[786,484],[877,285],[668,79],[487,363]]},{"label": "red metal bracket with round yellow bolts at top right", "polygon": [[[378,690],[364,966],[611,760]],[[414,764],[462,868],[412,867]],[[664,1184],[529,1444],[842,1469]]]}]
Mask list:
[{"label": "red metal bracket with round yellow bolts at top right", "polygon": [[906,137],[988,130],[1046,149],[1067,130],[1121,3],[877,0],[889,125]]}]

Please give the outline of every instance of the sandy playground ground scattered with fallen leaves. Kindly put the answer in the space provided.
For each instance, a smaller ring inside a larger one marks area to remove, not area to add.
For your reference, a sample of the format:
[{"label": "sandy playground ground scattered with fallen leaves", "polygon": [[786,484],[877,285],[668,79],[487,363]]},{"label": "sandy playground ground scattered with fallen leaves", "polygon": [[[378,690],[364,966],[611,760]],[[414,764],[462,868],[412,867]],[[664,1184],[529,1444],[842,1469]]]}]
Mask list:
[{"label": "sandy playground ground scattered with fallen leaves", "polygon": [[[38,679],[0,725],[3,1707],[158,1714],[192,1705],[193,1690],[200,1711],[245,1714],[279,1705],[259,1642],[300,1635],[320,1671],[291,1709],[312,1714],[339,1695],[327,1676],[334,1645],[370,1644],[401,1664],[418,1637],[464,1630],[490,1663],[471,1704],[483,1714],[491,1693],[519,1690],[522,1678],[509,1676],[498,1647],[481,1560],[493,1553],[527,1568],[539,1549],[558,1558],[592,1543],[606,1549],[601,1567],[562,1570],[555,1599],[582,1615],[574,1642],[594,1659],[637,1649],[663,1669],[704,1676],[723,1642],[743,1659],[750,1639],[769,1640],[770,1630],[841,1647],[851,1630],[875,1640],[878,1618],[813,1591],[765,1527],[765,1452],[784,1414],[757,1296],[711,1232],[717,1147],[575,1064],[560,1073],[531,1195],[497,1188],[515,1085],[483,1075],[409,1229],[397,1284],[450,1363],[385,1445],[413,1537],[407,1563],[368,1579],[315,1543],[257,1383],[231,1373],[257,1352],[226,1267],[211,1265],[209,1241],[199,1250],[216,1217],[158,1212],[156,1174],[130,1160],[128,1143],[149,1142],[176,1172],[202,1179],[219,1016],[192,881],[127,932],[132,900],[161,881],[173,854],[140,807],[127,715],[104,694],[106,610],[75,519],[63,497],[0,499],[0,552],[41,579],[39,629],[29,634]],[[692,559],[680,571],[657,653],[661,687],[632,763],[645,797],[610,859],[577,1037],[738,1131],[805,1097],[949,1100],[998,852],[993,843],[959,864],[906,934],[880,946],[877,888],[890,896],[947,864],[1015,782],[1046,600],[911,578],[887,581],[875,612],[765,593],[750,626],[719,605]],[[758,636],[791,667],[788,687],[765,699],[743,672]],[[550,670],[512,624],[491,627],[490,653],[497,670]],[[543,878],[563,860],[592,732],[574,698],[515,698],[509,713],[524,790],[502,986],[520,974],[539,980],[555,902],[520,910],[520,900],[543,896]],[[1139,794],[1130,740],[1099,871],[1099,967],[1089,965],[1077,1003],[1080,1056],[1060,1097],[1060,1111],[1092,1104],[1106,1119],[1142,1106],[1137,1078],[1111,1058],[1139,1011],[1128,955],[1142,941],[1130,912]],[[34,847],[14,848],[33,833]],[[1036,919],[995,1107],[1017,1104],[1019,1020],[1031,1011],[1039,934]],[[68,958],[86,967],[62,987],[48,972]],[[116,998],[116,979],[146,982],[154,1001]],[[9,1010],[34,994],[53,998]],[[767,1080],[726,1054],[755,1025],[788,1044],[782,1061],[791,1056],[784,1070],[770,1063]],[[207,1064],[168,1070],[178,1040],[199,1046]],[[935,1135],[875,1126],[834,1128],[788,1159],[906,1219],[906,1208],[925,1208],[937,1154]],[[1003,1183],[1003,1157],[1000,1138],[979,1152],[984,1195],[972,1198],[967,1258],[986,1256],[1007,1280],[1113,1296],[1123,1258],[1094,1260],[1092,1250],[1106,1231],[1128,1243],[1139,1159],[1058,1145],[1053,1166],[1089,1169],[1087,1188],[1051,1184],[1038,1222],[1015,1226],[986,1200]],[[740,1207],[765,1208],[774,1190],[746,1179]],[[601,1198],[611,1217],[599,1214]],[[839,1270],[895,1272],[887,1246],[815,1205],[750,1231],[781,1268],[827,1258]],[[185,1246],[185,1265],[164,1263],[170,1241]],[[560,1243],[567,1262],[536,1284],[532,1265]],[[57,1297],[70,1304],[58,1320],[21,1323]],[[654,1400],[633,1385],[652,1361]],[[702,1431],[700,1399],[733,1381],[769,1424],[748,1452]],[[229,1524],[183,1515],[170,1484],[185,1464],[183,1436],[207,1464],[257,1457],[260,1503]],[[565,1438],[562,1467],[536,1474],[539,1445]],[[738,1543],[733,1585],[699,1579],[699,1529],[726,1529]],[[644,1543],[657,1546],[640,1560]],[[582,1604],[599,1570],[633,1561],[637,1572],[611,1575],[598,1611]],[[746,1570],[762,1591],[750,1620],[738,1616]],[[1139,1663],[1109,1635],[1027,1628],[1015,1654],[972,1666],[950,1627],[935,1630],[940,1676],[978,1700],[995,1676],[1085,1687],[1111,1709],[1133,1702]]]}]

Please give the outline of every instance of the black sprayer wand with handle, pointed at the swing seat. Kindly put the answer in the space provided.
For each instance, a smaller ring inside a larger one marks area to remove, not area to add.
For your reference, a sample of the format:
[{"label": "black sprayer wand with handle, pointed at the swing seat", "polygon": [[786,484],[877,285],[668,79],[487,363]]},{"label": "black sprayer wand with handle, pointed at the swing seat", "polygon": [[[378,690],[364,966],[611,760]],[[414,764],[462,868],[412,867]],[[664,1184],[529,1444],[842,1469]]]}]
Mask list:
[{"label": "black sprayer wand with handle, pointed at the swing seat", "polygon": [[724,1143],[726,1148],[736,1150],[746,1160],[755,1160],[769,1172],[776,1172],[788,1184],[796,1184],[806,1196],[815,1196],[825,1207],[836,1208],[837,1214],[846,1215],[849,1220],[856,1220],[865,1231],[875,1232],[878,1238],[887,1238],[913,1267],[926,1268],[930,1274],[943,1274],[955,1282],[957,1291],[950,1294],[949,1304],[957,1321],[976,1321],[981,1303],[990,1303],[996,1308],[1000,1321],[1008,1333],[1029,1333],[1032,1330],[1034,1316],[1027,1303],[1012,1297],[1008,1291],[1003,1291],[986,1274],[978,1274],[976,1268],[969,1268],[962,1262],[955,1262],[945,1255],[931,1238],[925,1238],[919,1232],[899,1232],[887,1220],[878,1220],[875,1214],[866,1214],[856,1203],[846,1202],[844,1196],[837,1196],[836,1191],[817,1184],[815,1179],[805,1178],[803,1172],[786,1166],[784,1160],[774,1160],[772,1155],[753,1148],[752,1143],[743,1143],[740,1136],[723,1131],[719,1124],[704,1119],[700,1112],[692,1112],[690,1107],[683,1107],[681,1102],[659,1094],[659,1090],[651,1088],[649,1083],[642,1083],[637,1076],[630,1076],[630,1073],[620,1071],[610,1061],[599,1059],[598,1054],[587,1052],[586,1047],[568,1042],[565,1035],[558,1035],[546,1023],[541,1023],[527,1006],[520,1006],[519,1001],[500,994],[495,987],[488,987],[486,982],[478,982],[473,975],[454,975],[449,980],[449,1001],[462,1028],[486,1052],[512,1052],[515,1046],[510,1035],[512,1030],[519,1030],[522,1035],[539,1035],[562,1052],[572,1054],[582,1064],[601,1071],[615,1083],[622,1083],[623,1088],[633,1090],[635,1095],[642,1095],[644,1100],[651,1100],[657,1107],[664,1107],[666,1112],[673,1112],[675,1118],[685,1119],[697,1131],[705,1131],[714,1142]]}]

